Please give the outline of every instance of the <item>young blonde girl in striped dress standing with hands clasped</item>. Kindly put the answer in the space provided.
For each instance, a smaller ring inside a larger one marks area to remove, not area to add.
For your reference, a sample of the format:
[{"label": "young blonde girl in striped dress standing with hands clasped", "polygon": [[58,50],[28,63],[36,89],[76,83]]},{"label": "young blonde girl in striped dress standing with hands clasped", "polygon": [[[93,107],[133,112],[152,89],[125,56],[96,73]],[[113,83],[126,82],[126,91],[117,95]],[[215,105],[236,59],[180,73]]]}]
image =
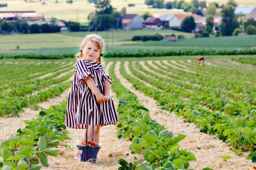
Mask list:
[{"label": "young blonde girl in striped dress standing with hands clasped", "polygon": [[[114,103],[110,97],[111,77],[105,74],[102,66],[104,41],[97,34],[89,34],[81,42],[80,53],[76,54],[76,72],[73,77],[71,91],[67,100],[65,125],[71,128],[88,128],[88,139],[92,136],[92,121],[94,122],[93,140],[99,144],[101,126],[111,125],[119,120]],[[87,114],[93,110],[94,119]],[[85,141],[85,131],[79,144]],[[80,159],[80,152],[75,159]]]}]

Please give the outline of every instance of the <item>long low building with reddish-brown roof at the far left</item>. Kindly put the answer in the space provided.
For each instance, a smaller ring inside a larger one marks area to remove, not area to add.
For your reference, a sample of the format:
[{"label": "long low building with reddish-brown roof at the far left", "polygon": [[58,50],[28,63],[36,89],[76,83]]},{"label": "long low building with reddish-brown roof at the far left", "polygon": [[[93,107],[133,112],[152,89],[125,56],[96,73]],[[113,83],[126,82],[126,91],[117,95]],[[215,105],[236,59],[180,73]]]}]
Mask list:
[{"label": "long low building with reddish-brown roof at the far left", "polygon": [[42,20],[44,15],[35,11],[1,11],[0,19],[13,21],[13,20]]}]

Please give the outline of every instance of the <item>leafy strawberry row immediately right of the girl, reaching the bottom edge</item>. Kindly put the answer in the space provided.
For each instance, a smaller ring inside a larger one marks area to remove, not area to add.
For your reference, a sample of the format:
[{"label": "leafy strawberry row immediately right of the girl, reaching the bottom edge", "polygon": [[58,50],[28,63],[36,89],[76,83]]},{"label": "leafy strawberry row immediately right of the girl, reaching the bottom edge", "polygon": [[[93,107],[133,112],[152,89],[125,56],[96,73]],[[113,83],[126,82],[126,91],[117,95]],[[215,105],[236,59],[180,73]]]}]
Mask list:
[{"label": "leafy strawberry row immediately right of the girl, reaching the bottom edge", "polygon": [[147,170],[157,168],[187,169],[189,161],[196,161],[193,153],[179,150],[179,144],[186,136],[180,134],[173,137],[172,132],[166,130],[149,116],[148,110],[139,104],[137,96],[123,87],[114,74],[114,65],[110,68],[110,75],[115,82],[111,86],[118,97],[119,122],[118,138],[129,139],[131,153],[142,153],[143,160],[135,157],[134,163],[119,159],[120,170]]}]

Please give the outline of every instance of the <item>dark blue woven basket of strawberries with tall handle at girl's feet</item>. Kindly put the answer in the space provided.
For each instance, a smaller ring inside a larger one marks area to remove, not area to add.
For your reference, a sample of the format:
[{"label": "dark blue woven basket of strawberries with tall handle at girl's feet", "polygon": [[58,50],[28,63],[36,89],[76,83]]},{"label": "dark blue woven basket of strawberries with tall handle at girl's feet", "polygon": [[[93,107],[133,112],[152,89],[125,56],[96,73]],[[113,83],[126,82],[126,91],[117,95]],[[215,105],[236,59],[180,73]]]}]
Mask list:
[{"label": "dark blue woven basket of strawberries with tall handle at girl's feet", "polygon": [[[92,119],[94,119],[92,110],[89,111],[86,125],[89,125],[90,115],[92,115]],[[85,141],[82,142],[81,144],[77,144],[76,146],[78,147],[78,149],[80,151],[81,161],[89,161],[89,162],[95,164],[97,154],[101,147],[98,144],[96,144],[95,142],[93,142],[94,121],[92,121],[92,122],[93,122],[92,138],[88,140],[88,138],[87,138],[88,128],[86,128]]]}]

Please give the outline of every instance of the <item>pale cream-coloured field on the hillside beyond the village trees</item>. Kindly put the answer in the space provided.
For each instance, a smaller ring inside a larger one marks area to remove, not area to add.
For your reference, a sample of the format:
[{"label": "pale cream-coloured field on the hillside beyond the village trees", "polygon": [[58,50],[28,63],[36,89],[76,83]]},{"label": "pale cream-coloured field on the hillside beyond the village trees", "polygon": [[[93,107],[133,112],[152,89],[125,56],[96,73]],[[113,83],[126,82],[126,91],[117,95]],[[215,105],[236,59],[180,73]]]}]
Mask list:
[{"label": "pale cream-coloured field on the hillside beyond the village trees", "polygon": [[[169,0],[165,0],[166,2]],[[186,0],[190,2],[191,0]],[[227,3],[228,0],[207,0],[207,3],[218,2],[218,3]],[[58,3],[55,3],[55,0],[45,0],[45,5],[41,5],[39,1],[32,1],[27,3],[24,0],[1,0],[1,3],[8,3],[7,7],[1,8],[1,11],[37,11],[41,14],[44,14],[44,17],[56,17],[63,20],[78,20],[79,22],[88,22],[87,15],[90,12],[93,12],[95,8],[87,2],[87,0],[73,0],[73,4],[67,4],[66,0],[58,0]],[[256,5],[255,0],[236,0],[239,4],[244,5]],[[135,3],[135,7],[128,7],[128,3]],[[126,7],[127,14],[143,14],[145,11],[150,12],[151,14],[180,14],[184,13],[183,11],[177,9],[156,9],[148,8],[144,4],[144,0],[111,0],[111,5],[116,8],[118,11],[122,7]]]}]

